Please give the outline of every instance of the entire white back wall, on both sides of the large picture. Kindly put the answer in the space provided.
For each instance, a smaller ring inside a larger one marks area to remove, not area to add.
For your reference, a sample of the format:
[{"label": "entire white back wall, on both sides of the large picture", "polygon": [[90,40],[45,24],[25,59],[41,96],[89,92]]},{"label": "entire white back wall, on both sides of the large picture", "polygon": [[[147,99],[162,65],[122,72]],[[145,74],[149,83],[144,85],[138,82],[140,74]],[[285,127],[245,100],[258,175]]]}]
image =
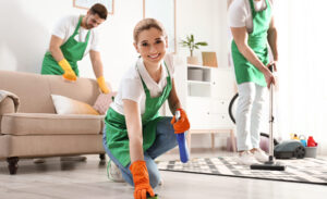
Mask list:
[{"label": "entire white back wall, on both sides of the large picture", "polygon": [[[72,0],[0,1],[0,70],[39,73],[55,23],[63,15],[86,12],[73,8],[72,2]],[[120,76],[137,55],[133,47],[132,32],[143,16],[142,9],[143,0],[116,0],[114,14],[109,15],[98,27],[101,35],[105,77],[110,79],[113,88],[118,87]],[[227,33],[226,13],[225,0],[177,0],[178,42],[192,33],[197,41],[204,40],[209,43],[201,50],[217,51],[219,66],[226,66],[227,40],[220,39]],[[195,51],[198,58],[201,50]],[[178,51],[181,55],[189,55],[185,48]],[[81,76],[94,77],[88,57],[78,65]]]}]

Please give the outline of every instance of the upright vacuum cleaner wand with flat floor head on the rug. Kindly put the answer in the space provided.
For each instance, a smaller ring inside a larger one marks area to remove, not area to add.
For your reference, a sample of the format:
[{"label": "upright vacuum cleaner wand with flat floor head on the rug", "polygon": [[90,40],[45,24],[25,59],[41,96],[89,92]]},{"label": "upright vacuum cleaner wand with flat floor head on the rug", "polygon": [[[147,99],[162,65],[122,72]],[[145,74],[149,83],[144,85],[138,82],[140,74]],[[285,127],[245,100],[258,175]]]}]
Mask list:
[{"label": "upright vacuum cleaner wand with flat floor head on the rug", "polygon": [[[269,70],[272,73],[272,66]],[[269,159],[264,164],[252,164],[251,170],[284,171],[286,166],[275,162],[274,158],[274,84],[269,88]]]}]

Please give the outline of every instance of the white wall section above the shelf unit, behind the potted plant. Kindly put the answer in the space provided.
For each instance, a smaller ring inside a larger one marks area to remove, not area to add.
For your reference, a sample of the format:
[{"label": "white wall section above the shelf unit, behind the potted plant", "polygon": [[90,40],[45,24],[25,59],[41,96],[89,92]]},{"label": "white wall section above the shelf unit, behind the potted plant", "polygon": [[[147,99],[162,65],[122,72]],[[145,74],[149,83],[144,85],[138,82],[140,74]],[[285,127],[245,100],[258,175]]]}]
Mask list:
[{"label": "white wall section above the shelf unit, behind the potted plant", "polygon": [[[228,26],[226,0],[177,0],[178,42],[194,34],[195,41],[207,41],[194,54],[201,59],[201,51],[216,51],[219,67],[228,65]],[[182,55],[190,55],[186,48],[180,48]]]}]

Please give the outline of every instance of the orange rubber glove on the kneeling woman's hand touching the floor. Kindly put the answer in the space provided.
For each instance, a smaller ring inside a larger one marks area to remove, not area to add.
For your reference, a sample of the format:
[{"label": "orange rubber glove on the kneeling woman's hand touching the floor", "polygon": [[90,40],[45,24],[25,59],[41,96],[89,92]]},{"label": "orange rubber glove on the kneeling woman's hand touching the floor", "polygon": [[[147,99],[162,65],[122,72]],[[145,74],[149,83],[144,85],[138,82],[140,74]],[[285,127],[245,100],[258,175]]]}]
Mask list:
[{"label": "orange rubber glove on the kneeling woman's hand touching the floor", "polygon": [[150,197],[155,196],[155,192],[149,184],[149,176],[145,161],[137,160],[130,166],[133,174],[134,182],[134,199],[146,199],[148,192]]}]

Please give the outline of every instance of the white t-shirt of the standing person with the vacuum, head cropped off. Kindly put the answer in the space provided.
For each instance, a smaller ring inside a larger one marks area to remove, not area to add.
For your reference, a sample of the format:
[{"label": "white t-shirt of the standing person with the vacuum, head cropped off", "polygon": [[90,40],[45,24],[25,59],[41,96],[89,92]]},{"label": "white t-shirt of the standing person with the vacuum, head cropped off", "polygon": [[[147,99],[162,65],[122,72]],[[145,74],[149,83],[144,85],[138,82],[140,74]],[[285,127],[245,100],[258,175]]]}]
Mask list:
[{"label": "white t-shirt of the standing person with the vacuum, head cropped off", "polygon": [[[230,27],[246,27],[247,33],[253,32],[253,18],[250,1],[253,1],[254,9],[261,11],[267,8],[266,0],[233,0],[229,7]],[[272,11],[272,0],[268,0]]]}]

